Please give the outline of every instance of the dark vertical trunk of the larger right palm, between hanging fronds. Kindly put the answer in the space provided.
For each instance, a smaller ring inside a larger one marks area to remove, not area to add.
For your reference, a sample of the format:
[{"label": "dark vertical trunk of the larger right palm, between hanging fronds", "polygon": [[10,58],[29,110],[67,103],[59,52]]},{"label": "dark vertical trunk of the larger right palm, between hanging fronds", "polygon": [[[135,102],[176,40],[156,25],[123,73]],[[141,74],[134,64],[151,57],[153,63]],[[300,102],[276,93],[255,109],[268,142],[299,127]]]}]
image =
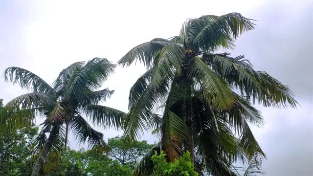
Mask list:
[{"label": "dark vertical trunk of the larger right palm, between hanging fronds", "polygon": [[187,99],[186,99],[186,125],[188,129],[188,146],[187,149],[190,152],[191,162],[194,163],[194,137],[192,127],[192,100],[191,100],[191,84],[188,80],[187,85]]}]

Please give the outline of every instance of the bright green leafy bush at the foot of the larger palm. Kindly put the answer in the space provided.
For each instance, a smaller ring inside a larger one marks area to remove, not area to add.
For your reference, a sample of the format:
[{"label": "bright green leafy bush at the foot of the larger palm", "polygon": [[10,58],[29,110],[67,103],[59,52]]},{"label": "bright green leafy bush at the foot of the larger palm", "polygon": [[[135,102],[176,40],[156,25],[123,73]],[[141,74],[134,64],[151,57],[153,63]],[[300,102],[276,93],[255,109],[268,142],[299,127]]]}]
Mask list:
[{"label": "bright green leafy bush at the foot of the larger palm", "polygon": [[153,176],[198,176],[195,171],[195,167],[191,162],[190,152],[183,153],[179,156],[179,159],[175,159],[174,162],[166,161],[166,154],[163,151],[158,155],[155,154],[151,157],[154,163]]}]

